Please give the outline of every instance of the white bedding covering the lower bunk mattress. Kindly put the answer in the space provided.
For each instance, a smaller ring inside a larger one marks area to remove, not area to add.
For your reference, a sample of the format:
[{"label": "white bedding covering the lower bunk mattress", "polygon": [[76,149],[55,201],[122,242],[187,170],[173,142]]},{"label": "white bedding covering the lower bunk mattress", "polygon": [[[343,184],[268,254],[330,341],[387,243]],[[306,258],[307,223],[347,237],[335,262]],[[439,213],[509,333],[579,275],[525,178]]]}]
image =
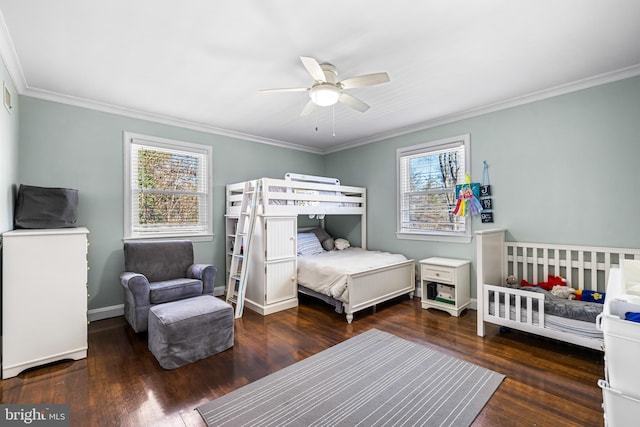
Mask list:
[{"label": "white bedding covering the lower bunk mattress", "polygon": [[298,256],[298,284],[339,301],[348,302],[350,274],[406,261],[401,254],[347,248],[317,255]]}]

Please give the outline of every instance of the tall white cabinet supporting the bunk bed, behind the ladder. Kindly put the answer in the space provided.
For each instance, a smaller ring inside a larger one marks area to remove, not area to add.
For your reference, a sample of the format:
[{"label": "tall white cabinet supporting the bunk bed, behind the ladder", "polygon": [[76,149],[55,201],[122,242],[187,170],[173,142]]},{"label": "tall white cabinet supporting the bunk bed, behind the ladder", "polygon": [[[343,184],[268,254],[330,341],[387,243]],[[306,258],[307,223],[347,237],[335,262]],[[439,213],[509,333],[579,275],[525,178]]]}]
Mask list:
[{"label": "tall white cabinet supporting the bunk bed, behind the ladder", "polygon": [[[235,223],[227,219],[227,254],[234,242]],[[262,315],[298,305],[296,233],[297,218],[292,216],[256,217],[253,242],[244,254],[249,268],[245,307]],[[227,257],[227,276],[230,257]]]}]

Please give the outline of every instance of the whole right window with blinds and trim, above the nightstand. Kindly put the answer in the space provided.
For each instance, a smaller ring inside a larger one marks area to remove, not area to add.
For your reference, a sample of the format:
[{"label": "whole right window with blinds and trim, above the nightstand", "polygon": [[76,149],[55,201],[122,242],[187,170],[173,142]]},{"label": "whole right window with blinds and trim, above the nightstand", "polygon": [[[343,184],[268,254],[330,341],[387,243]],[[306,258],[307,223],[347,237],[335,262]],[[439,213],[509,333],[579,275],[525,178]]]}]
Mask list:
[{"label": "whole right window with blinds and trim, above the nightstand", "polygon": [[470,242],[467,217],[453,214],[456,185],[469,173],[469,135],[397,150],[400,239]]}]

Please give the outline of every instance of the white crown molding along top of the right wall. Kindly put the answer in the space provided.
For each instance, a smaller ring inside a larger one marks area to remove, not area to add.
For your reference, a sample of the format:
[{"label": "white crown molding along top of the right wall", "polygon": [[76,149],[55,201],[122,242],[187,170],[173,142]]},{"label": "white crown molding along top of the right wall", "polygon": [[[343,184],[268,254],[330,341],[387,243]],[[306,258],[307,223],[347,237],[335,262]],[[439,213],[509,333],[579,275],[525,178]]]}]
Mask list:
[{"label": "white crown molding along top of the right wall", "polygon": [[563,85],[554,86],[549,89],[532,92],[527,95],[522,95],[522,96],[508,99],[506,101],[486,104],[486,105],[471,108],[459,113],[437,117],[435,119],[428,120],[416,125],[407,126],[391,132],[381,133],[371,138],[363,138],[347,144],[342,144],[336,147],[329,148],[327,150],[324,150],[323,154],[344,151],[344,150],[359,147],[362,145],[372,144],[374,142],[379,142],[386,139],[396,138],[396,137],[407,135],[410,133],[431,129],[431,128],[442,126],[448,123],[453,123],[460,120],[481,116],[483,114],[493,113],[496,111],[505,110],[507,108],[530,104],[532,102],[542,101],[542,100],[553,98],[556,96],[566,95],[568,93],[577,92],[580,90],[589,89],[589,88],[600,86],[603,84],[613,83],[616,81],[625,80],[625,79],[629,79],[637,76],[640,76],[640,64],[635,64],[629,67],[621,68],[619,70],[599,74],[597,76],[587,77],[585,79],[576,80],[574,82],[566,83]]}]

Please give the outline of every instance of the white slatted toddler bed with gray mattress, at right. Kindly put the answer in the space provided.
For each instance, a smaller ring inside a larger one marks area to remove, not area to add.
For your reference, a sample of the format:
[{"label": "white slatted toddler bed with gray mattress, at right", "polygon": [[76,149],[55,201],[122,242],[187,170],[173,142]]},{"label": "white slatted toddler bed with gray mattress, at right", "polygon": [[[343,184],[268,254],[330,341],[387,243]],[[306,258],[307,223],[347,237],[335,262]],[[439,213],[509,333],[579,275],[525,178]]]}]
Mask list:
[{"label": "white slatted toddler bed with gray mattress, at right", "polygon": [[640,249],[508,242],[505,233],[476,232],[478,336],[485,335],[486,322],[602,350],[596,322],[604,304],[559,297],[535,285],[562,277],[566,286],[606,297],[611,268],[640,259]]}]

